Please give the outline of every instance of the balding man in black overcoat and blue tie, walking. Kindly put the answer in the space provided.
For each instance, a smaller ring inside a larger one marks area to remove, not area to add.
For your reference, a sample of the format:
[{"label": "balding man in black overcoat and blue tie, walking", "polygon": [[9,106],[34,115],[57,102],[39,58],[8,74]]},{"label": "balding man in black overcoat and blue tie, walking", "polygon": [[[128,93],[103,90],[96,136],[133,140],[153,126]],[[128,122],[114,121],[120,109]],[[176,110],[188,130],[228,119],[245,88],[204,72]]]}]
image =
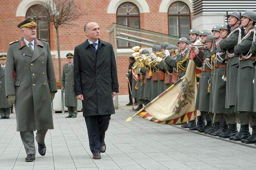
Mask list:
[{"label": "balding man in black overcoat and blue tie, walking", "polygon": [[74,52],[74,89],[82,101],[93,159],[101,159],[106,150],[105,132],[115,113],[113,97],[118,93],[116,59],[110,43],[99,39],[99,25],[86,23],[88,40]]}]

